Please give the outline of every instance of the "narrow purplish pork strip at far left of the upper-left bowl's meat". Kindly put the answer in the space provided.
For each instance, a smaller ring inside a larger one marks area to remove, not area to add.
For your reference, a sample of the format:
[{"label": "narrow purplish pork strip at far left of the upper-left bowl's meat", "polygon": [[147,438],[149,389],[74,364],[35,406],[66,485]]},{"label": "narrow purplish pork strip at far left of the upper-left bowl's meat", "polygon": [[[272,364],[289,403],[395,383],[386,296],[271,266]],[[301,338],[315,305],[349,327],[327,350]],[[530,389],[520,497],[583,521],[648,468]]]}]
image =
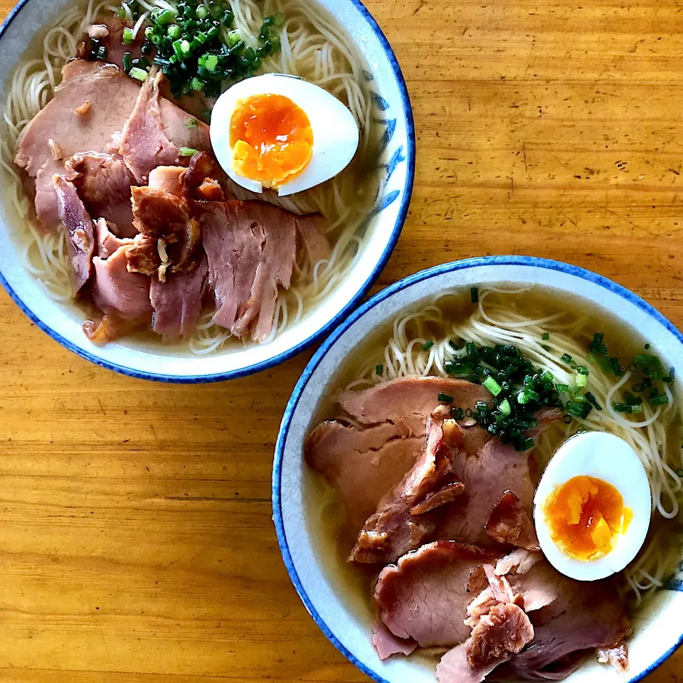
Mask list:
[{"label": "narrow purplish pork strip at far left of the upper-left bowl's meat", "polygon": [[80,292],[92,273],[95,253],[95,233],[92,218],[85,211],[75,187],[63,176],[55,175],[53,184],[57,196],[58,216],[67,231],[67,245],[71,263],[71,284]]}]

